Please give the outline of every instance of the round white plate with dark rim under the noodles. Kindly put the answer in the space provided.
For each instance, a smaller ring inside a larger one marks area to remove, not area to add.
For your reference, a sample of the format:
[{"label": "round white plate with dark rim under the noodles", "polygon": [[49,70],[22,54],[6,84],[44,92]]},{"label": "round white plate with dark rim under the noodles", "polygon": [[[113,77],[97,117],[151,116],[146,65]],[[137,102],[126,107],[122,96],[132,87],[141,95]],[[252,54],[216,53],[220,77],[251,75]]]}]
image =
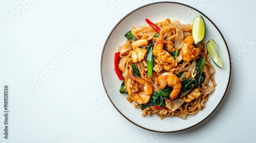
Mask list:
[{"label": "round white plate with dark rim under the noodles", "polygon": [[[215,66],[215,80],[217,87],[215,91],[209,96],[208,101],[205,103],[203,110],[195,115],[187,115],[186,120],[178,117],[167,117],[164,120],[153,114],[151,116],[142,117],[142,111],[134,108],[133,104],[127,102],[126,96],[119,93],[119,88],[122,83],[114,73],[114,54],[117,52],[118,47],[124,44],[126,38],[123,36],[126,32],[130,31],[132,26],[146,25],[145,18],[157,22],[164,18],[179,20],[181,23],[193,23],[196,16],[202,15],[205,21],[205,37],[204,42],[210,38],[214,39],[219,47],[220,58],[222,59],[223,68],[217,67],[213,61],[212,65]],[[228,87],[231,74],[231,63],[228,47],[221,32],[216,25],[202,12],[190,6],[174,3],[174,2],[159,2],[144,5],[139,7],[129,14],[125,15],[113,28],[110,35],[106,39],[101,55],[101,77],[102,82],[108,94],[109,99],[115,108],[133,124],[156,132],[176,132],[188,129],[207,118],[212,112],[215,111],[217,106],[222,101]]]}]

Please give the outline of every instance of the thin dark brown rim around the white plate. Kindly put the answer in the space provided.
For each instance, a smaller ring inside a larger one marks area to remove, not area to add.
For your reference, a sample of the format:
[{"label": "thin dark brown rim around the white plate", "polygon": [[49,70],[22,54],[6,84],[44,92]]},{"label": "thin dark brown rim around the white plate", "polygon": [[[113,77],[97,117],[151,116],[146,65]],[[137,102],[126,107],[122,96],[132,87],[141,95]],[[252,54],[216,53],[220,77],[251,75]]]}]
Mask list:
[{"label": "thin dark brown rim around the white plate", "polygon": [[[125,116],[115,105],[115,103],[112,101],[112,99],[110,98],[110,95],[109,95],[109,92],[108,90],[106,90],[106,86],[105,86],[105,83],[104,83],[104,77],[103,77],[103,69],[102,69],[102,62],[103,62],[103,54],[104,54],[104,50],[105,50],[105,46],[106,46],[106,43],[108,42],[110,36],[112,35],[112,33],[114,32],[114,30],[116,29],[116,27],[121,23],[122,20],[124,20],[127,16],[131,15],[132,13],[136,12],[137,10],[140,10],[144,7],[148,7],[148,6],[151,6],[151,5],[156,5],[156,4],[177,4],[177,5],[181,5],[181,6],[185,6],[185,7],[188,7],[190,9],[193,9],[195,11],[197,11],[198,13],[202,14],[204,17],[206,17],[209,22],[216,28],[216,30],[218,31],[218,33],[221,35],[221,38],[225,44],[225,47],[226,47],[226,50],[227,50],[227,54],[228,54],[228,62],[229,62],[229,69],[228,69],[228,81],[227,81],[227,85],[226,85],[226,88],[225,88],[225,91],[223,93],[223,96],[222,98],[220,99],[219,103],[217,104],[216,107],[214,107],[214,109],[207,115],[205,116],[202,120],[200,120],[199,122],[197,122],[196,124],[194,125],[190,125],[186,128],[183,128],[183,129],[179,129],[179,130],[172,130],[172,131],[160,131],[160,130],[154,130],[154,129],[149,129],[149,128],[146,128],[146,127],[143,127],[137,123],[135,123],[134,121],[130,120],[129,117]],[[130,121],[131,123],[133,123],[134,125],[142,128],[142,129],[146,129],[146,130],[149,130],[149,131],[153,131],[153,132],[160,132],[160,133],[172,133],[172,132],[179,132],[179,131],[183,131],[183,130],[187,130],[189,128],[192,128],[192,127],[195,127],[197,126],[198,124],[202,123],[203,121],[206,120],[206,118],[208,118],[212,113],[214,113],[214,111],[219,107],[219,105],[221,104],[223,98],[225,97],[226,95],[226,92],[228,90],[228,87],[229,87],[229,83],[230,83],[230,78],[231,78],[231,58],[230,58],[230,53],[229,53],[229,49],[228,49],[228,45],[226,43],[226,40],[223,36],[223,34],[221,33],[221,31],[219,30],[219,28],[215,25],[215,23],[208,17],[206,16],[204,13],[202,13],[200,10],[192,7],[192,6],[189,6],[189,5],[186,5],[186,4],[183,4],[183,3],[179,3],[179,2],[168,2],[168,1],[163,1],[163,2],[154,2],[154,3],[148,3],[148,4],[145,4],[145,5],[142,5],[134,10],[132,10],[131,12],[127,13],[126,15],[124,15],[117,23],[116,25],[113,27],[113,29],[111,30],[111,32],[109,33],[108,37],[106,38],[105,42],[104,42],[104,45],[103,45],[103,49],[102,49],[102,52],[101,52],[101,60],[100,60],[100,73],[101,73],[101,80],[102,80],[102,84],[103,84],[103,87],[104,87],[104,90],[108,96],[108,98],[110,99],[111,103],[113,104],[113,106],[115,107],[115,109],[124,117],[126,118],[126,120]]]}]

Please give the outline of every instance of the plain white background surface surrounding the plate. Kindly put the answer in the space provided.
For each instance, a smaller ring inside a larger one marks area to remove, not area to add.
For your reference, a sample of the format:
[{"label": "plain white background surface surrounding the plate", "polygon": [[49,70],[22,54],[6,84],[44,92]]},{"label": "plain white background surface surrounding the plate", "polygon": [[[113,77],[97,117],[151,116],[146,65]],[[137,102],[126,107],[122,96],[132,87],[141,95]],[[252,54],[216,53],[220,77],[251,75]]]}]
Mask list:
[{"label": "plain white background surface surrounding the plate", "polygon": [[127,121],[111,104],[100,74],[104,42],[123,16],[152,2],[160,1],[1,0],[0,142],[253,142],[256,1],[175,1],[214,21],[229,47],[229,88],[205,121],[157,133]]}]

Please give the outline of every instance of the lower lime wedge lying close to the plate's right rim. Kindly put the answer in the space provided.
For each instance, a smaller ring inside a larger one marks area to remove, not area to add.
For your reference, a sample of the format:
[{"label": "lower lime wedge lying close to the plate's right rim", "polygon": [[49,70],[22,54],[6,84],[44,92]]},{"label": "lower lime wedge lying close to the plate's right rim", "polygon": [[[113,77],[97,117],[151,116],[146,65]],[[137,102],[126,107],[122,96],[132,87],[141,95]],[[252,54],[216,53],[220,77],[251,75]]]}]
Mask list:
[{"label": "lower lime wedge lying close to the plate's right rim", "polygon": [[219,58],[219,51],[215,41],[210,39],[206,44],[206,48],[211,59],[215,62],[215,64],[218,67],[222,68],[222,62],[221,59]]}]

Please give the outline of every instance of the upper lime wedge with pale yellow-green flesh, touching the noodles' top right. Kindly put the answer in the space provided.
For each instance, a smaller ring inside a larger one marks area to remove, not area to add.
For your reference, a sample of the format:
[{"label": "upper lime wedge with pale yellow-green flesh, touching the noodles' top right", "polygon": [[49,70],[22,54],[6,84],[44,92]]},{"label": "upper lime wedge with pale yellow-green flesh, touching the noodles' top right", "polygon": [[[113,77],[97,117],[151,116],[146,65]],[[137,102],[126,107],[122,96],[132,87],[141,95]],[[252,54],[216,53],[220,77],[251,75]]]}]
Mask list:
[{"label": "upper lime wedge with pale yellow-green flesh, touching the noodles' top right", "polygon": [[204,31],[205,31],[204,19],[201,15],[199,15],[194,19],[193,28],[192,28],[192,36],[194,38],[195,44],[203,40]]}]

